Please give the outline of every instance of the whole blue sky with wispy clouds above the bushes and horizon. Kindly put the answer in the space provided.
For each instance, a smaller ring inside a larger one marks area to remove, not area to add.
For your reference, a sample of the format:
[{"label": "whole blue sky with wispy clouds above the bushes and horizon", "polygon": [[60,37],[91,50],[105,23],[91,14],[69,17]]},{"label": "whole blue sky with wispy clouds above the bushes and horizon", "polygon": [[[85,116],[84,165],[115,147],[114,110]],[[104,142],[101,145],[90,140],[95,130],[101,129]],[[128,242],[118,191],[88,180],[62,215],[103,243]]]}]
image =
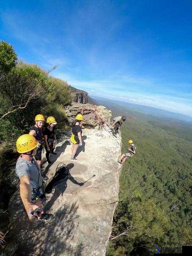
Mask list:
[{"label": "whole blue sky with wispy clouds above the bushes and horizon", "polygon": [[89,95],[192,116],[192,1],[1,1],[0,40]]}]

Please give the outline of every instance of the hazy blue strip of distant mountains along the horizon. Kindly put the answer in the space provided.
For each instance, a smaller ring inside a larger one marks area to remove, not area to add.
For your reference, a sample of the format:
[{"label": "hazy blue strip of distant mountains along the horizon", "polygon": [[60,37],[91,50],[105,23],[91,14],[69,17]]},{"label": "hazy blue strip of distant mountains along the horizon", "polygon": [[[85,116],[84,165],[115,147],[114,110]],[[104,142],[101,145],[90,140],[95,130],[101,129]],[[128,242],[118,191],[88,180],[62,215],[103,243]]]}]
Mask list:
[{"label": "hazy blue strip of distant mountains along the horizon", "polygon": [[121,105],[124,108],[130,109],[132,111],[137,111],[140,113],[144,113],[147,115],[152,115],[152,116],[156,116],[156,117],[165,117],[165,118],[174,118],[177,120],[181,120],[181,121],[185,121],[185,122],[189,122],[192,123],[192,117],[190,116],[186,116],[186,115],[182,115],[179,113],[174,113],[174,112],[170,112],[170,111],[166,111],[166,110],[162,110],[160,108],[153,108],[150,106],[144,106],[144,105],[138,105],[138,104],[133,104],[133,103],[129,103],[129,102],[125,102],[125,101],[118,101],[118,100],[109,100],[106,98],[101,98],[101,97],[96,97],[91,95],[91,97],[98,101],[99,104],[101,104],[101,101],[104,103],[106,101],[108,102],[113,102],[117,103],[118,105]]}]

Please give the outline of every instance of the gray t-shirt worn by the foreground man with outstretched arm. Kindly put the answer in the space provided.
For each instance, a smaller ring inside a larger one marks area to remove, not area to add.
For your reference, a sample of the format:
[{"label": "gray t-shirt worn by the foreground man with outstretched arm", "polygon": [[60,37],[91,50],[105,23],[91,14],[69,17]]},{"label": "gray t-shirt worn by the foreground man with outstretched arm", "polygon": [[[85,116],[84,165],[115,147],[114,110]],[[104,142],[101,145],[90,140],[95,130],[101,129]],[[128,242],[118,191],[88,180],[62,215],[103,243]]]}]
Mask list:
[{"label": "gray t-shirt worn by the foreground man with outstretched arm", "polygon": [[30,177],[31,188],[40,188],[43,184],[43,179],[41,173],[38,169],[36,161],[26,161],[22,157],[19,157],[15,167],[16,174],[19,178],[22,178],[24,175]]}]

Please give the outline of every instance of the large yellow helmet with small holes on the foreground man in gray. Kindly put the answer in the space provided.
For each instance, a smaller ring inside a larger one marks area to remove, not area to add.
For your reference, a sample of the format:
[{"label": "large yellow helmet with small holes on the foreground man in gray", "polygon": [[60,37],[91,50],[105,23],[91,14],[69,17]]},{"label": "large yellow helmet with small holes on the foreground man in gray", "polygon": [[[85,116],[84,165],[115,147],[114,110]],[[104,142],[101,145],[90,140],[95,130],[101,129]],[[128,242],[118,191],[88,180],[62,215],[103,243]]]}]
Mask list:
[{"label": "large yellow helmet with small holes on the foreground man in gray", "polygon": [[38,146],[36,138],[30,134],[23,134],[17,139],[16,147],[18,153],[26,153]]}]

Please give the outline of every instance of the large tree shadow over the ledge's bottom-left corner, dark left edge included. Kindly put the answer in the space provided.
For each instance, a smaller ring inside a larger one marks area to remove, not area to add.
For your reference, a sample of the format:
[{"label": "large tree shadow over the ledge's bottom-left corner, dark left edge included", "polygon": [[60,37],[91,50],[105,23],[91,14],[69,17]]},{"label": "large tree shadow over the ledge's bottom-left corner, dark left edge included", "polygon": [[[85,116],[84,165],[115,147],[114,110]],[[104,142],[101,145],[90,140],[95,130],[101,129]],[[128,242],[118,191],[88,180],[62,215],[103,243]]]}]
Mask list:
[{"label": "large tree shadow over the ledge's bottom-left corner, dark left edge included", "polygon": [[10,240],[17,243],[15,255],[82,255],[83,245],[71,244],[78,229],[77,203],[63,204],[48,223],[32,224],[24,213],[19,193],[14,199],[18,201],[11,202],[14,205],[10,207]]}]

